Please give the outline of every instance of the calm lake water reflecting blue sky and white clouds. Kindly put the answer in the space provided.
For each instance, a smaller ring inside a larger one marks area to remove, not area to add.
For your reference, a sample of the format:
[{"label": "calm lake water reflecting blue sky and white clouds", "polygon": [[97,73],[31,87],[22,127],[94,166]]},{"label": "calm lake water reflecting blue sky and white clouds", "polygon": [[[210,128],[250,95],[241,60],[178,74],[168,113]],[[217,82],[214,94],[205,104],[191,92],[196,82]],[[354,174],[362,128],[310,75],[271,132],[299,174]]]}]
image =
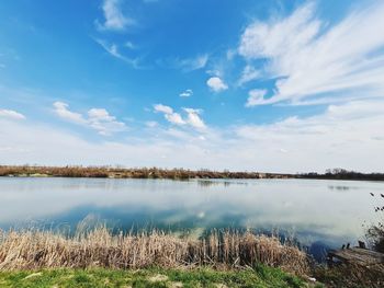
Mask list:
[{"label": "calm lake water reflecting blue sky and white clouds", "polygon": [[384,183],[313,180],[167,181],[0,177],[0,227],[75,227],[84,218],[114,228],[278,230],[308,246],[339,246],[376,221]]}]

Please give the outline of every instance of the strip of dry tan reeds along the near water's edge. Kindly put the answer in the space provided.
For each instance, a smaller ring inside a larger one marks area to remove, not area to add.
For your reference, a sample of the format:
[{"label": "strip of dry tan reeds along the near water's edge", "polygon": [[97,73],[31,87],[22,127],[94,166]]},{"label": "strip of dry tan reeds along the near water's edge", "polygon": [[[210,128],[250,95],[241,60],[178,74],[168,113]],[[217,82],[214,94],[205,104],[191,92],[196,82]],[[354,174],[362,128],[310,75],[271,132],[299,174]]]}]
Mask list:
[{"label": "strip of dry tan reeds along the near water's edge", "polygon": [[264,264],[296,275],[307,255],[278,238],[213,231],[193,240],[154,230],[112,234],[106,228],[66,237],[52,231],[0,231],[0,270],[39,268],[246,267]]}]

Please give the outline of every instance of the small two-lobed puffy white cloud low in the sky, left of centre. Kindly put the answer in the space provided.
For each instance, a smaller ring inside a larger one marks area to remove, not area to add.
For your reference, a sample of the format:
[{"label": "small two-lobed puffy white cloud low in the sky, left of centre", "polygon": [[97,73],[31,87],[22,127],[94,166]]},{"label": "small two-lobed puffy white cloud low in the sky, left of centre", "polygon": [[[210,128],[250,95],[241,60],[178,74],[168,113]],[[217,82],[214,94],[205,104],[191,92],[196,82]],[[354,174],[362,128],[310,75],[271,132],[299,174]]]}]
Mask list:
[{"label": "small two-lobed puffy white cloud low in the sky, left of centre", "polygon": [[69,105],[64,102],[55,102],[54,108],[60,118],[90,127],[103,136],[126,130],[126,125],[116,120],[116,117],[111,116],[104,108],[89,110],[87,118],[80,113],[71,112]]}]

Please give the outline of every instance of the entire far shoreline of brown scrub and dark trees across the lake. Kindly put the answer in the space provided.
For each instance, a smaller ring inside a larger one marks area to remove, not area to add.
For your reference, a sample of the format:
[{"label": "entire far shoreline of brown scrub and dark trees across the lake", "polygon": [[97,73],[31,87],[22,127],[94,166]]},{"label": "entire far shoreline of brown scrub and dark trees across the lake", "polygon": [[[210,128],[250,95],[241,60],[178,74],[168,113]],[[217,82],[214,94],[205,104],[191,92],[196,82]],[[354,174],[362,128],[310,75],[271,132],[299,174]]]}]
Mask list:
[{"label": "entire far shoreline of brown scrub and dark trees across the lake", "polygon": [[158,169],[158,168],[113,168],[113,166],[32,166],[0,165],[0,176],[8,177],[97,177],[97,178],[314,178],[314,180],[350,180],[384,181],[384,173],[360,173],[336,169],[319,173],[263,173],[233,172],[211,170]]}]

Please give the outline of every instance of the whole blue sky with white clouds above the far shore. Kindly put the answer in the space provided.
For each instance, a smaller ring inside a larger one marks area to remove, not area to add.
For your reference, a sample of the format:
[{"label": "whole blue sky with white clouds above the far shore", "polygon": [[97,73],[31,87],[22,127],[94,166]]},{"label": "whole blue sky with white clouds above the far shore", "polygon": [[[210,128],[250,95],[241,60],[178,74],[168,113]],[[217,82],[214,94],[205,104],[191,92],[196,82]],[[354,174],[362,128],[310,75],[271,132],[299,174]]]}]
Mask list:
[{"label": "whole blue sky with white clouds above the far shore", "polygon": [[0,164],[384,172],[384,1],[0,3]]}]

